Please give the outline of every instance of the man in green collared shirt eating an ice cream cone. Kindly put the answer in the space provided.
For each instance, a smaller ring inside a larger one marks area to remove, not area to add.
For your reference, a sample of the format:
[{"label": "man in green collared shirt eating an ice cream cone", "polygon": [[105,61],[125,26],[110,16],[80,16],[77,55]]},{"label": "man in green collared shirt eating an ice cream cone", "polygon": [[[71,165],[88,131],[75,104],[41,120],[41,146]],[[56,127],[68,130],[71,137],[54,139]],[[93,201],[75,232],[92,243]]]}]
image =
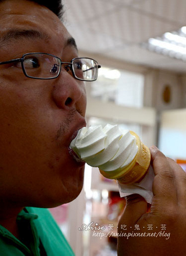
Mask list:
[{"label": "man in green collared shirt eating an ice cream cone", "polygon": [[[45,2],[0,1],[1,255],[73,255],[47,210],[33,207],[70,202],[82,189],[84,162],[69,145],[86,125],[84,80],[96,79],[98,65],[78,58],[57,17],[60,1]],[[119,237],[119,255],[154,255],[157,246],[161,255],[181,255],[185,249],[178,238],[185,230],[185,174],[156,148],[151,153],[151,213],[141,197],[128,197],[118,226],[167,224],[171,237]]]}]

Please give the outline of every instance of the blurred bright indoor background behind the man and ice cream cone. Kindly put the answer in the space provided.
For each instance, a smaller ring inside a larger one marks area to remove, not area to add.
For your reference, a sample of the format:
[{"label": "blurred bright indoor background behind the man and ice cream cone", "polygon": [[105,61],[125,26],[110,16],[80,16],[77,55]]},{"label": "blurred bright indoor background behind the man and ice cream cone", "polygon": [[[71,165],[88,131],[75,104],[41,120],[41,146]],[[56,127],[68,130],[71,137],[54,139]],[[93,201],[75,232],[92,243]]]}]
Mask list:
[{"label": "blurred bright indoor background behind the man and ice cream cone", "polygon": [[[101,65],[87,82],[88,125],[118,124],[186,166],[186,1],[64,0],[64,23],[79,56]],[[51,209],[77,256],[117,255],[116,237],[95,237],[82,224],[117,232],[125,207],[115,181],[86,165],[85,186]]]}]

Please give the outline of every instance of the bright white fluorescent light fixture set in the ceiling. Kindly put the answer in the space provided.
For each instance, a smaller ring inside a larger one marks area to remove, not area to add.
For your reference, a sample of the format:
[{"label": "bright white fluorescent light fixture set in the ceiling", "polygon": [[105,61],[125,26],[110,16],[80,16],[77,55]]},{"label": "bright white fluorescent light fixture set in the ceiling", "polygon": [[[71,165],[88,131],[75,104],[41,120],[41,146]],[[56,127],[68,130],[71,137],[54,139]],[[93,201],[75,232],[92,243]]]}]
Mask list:
[{"label": "bright white fluorescent light fixture set in the ceiling", "polygon": [[161,37],[149,38],[142,47],[163,55],[186,61],[186,27],[166,32]]}]

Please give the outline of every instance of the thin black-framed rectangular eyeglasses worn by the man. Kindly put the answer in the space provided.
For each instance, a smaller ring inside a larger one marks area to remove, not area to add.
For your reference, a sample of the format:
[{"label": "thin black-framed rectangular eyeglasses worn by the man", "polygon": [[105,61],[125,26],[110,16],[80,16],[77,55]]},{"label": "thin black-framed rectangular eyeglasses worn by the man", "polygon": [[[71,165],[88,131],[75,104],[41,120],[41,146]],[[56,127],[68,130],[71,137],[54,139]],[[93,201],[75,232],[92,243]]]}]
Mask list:
[{"label": "thin black-framed rectangular eyeglasses worn by the man", "polygon": [[63,65],[67,72],[72,72],[74,78],[82,81],[95,81],[98,69],[101,67],[92,58],[74,58],[70,62],[63,62],[53,54],[42,52],[26,53],[22,58],[3,61],[0,62],[0,65],[9,63],[15,63],[15,66],[20,63],[25,76],[34,79],[57,78]]}]

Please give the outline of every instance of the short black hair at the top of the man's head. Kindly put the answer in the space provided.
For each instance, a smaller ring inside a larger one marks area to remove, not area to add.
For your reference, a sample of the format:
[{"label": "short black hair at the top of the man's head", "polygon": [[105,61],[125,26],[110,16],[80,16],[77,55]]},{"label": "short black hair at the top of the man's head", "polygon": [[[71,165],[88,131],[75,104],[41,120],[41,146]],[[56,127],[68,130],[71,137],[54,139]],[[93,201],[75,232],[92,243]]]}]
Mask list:
[{"label": "short black hair at the top of the man's head", "polygon": [[[6,0],[0,0],[1,2],[4,2]],[[64,10],[63,10],[63,4],[61,3],[61,0],[28,0],[35,2],[39,5],[43,5],[47,7],[49,10],[51,10],[53,13],[55,13],[60,19],[63,18]]]}]

